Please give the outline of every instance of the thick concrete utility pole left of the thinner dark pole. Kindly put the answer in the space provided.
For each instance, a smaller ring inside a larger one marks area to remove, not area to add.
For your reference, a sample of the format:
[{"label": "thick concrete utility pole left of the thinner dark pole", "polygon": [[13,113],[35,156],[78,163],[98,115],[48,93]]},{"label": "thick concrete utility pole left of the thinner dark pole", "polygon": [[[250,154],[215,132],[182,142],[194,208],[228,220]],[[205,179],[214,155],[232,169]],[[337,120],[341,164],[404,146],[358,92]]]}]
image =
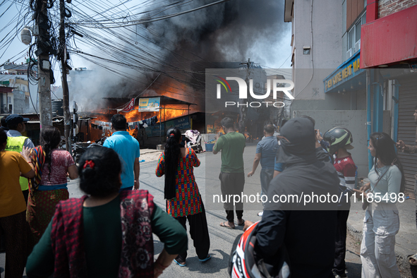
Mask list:
[{"label": "thick concrete utility pole left of the thinner dark pole", "polygon": [[37,0],[36,25],[39,26],[39,37],[37,40],[37,76],[38,93],[39,93],[39,110],[40,110],[40,130],[42,126],[52,126],[52,103],[51,103],[51,63],[49,62],[49,52],[44,49],[44,40],[49,40],[49,30],[45,28],[48,25],[47,2]]}]

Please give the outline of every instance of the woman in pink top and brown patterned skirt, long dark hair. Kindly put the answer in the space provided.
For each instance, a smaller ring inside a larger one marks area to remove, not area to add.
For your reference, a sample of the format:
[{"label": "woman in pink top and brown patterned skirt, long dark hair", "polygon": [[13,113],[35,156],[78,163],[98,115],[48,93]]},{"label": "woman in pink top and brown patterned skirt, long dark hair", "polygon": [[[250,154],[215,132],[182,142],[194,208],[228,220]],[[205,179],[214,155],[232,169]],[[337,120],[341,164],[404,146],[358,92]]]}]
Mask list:
[{"label": "woman in pink top and brown patterned skirt, long dark hair", "polygon": [[60,200],[69,197],[67,180],[78,178],[73,157],[66,150],[59,150],[61,133],[53,126],[42,126],[41,145],[30,152],[35,166],[35,178],[29,184],[26,218],[36,244],[52,217]]}]

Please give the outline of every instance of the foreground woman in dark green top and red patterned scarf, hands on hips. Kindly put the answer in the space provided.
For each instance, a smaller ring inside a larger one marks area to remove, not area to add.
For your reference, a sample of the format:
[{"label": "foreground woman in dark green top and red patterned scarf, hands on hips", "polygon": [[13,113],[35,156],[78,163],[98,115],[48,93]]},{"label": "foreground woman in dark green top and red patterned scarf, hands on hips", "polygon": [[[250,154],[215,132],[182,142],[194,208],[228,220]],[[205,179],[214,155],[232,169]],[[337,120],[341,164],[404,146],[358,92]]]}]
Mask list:
[{"label": "foreground woman in dark green top and red patterned scarf, hands on hips", "polygon": [[[87,195],[56,205],[28,258],[28,277],[154,278],[187,249],[186,231],[153,203],[150,193],[119,193],[121,161],[114,150],[90,148],[78,172]],[[164,243],[156,262],[152,233]]]}]

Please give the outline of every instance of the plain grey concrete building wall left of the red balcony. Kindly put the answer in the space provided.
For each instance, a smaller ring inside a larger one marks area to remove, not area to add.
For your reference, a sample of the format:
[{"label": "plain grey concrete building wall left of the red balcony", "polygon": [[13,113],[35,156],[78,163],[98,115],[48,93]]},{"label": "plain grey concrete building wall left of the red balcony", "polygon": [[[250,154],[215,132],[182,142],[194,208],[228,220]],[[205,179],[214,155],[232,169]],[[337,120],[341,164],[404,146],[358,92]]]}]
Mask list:
[{"label": "plain grey concrete building wall left of the red balcony", "polygon": [[[291,104],[291,116],[313,117],[316,128],[322,133],[335,126],[348,128],[353,135],[355,149],[351,150],[351,154],[358,167],[358,176],[364,177],[368,174],[366,111],[358,111],[360,108],[356,104],[361,92],[348,92],[333,86],[351,78],[353,61],[356,61],[353,54],[360,53],[359,50],[356,53],[353,51],[349,58],[346,55],[349,30],[356,23],[356,20],[351,20],[352,5],[348,5],[347,1],[351,0],[285,1],[284,21],[291,22],[293,49],[291,61],[295,99]],[[363,15],[364,10],[362,0],[361,4],[356,4],[354,17]],[[353,41],[350,43],[354,44]],[[344,78],[339,78],[339,71],[343,68],[350,68],[350,75],[344,74]],[[357,71],[354,73],[358,74]],[[337,76],[334,80],[338,79],[338,82],[332,84],[333,90],[330,91],[324,80],[332,75]],[[361,84],[365,87],[365,80]],[[365,92],[362,94],[365,95]]]}]

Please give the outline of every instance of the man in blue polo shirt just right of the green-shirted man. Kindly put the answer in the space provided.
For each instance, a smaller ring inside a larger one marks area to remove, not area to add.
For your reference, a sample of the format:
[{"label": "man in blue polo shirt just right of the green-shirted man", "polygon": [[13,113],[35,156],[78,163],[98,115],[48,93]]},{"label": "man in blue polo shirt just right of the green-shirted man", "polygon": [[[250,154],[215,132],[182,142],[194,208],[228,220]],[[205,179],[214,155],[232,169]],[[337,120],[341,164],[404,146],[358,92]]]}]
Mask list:
[{"label": "man in blue polo shirt just right of the green-shirted man", "polygon": [[[248,173],[248,178],[253,176],[260,162],[260,166],[262,167],[262,169],[260,170],[261,196],[267,195],[268,187],[270,186],[270,181],[274,177],[275,155],[277,155],[279,147],[277,137],[274,136],[274,126],[272,126],[272,124],[267,124],[266,126],[264,126],[263,133],[265,135],[265,138],[260,140],[258,145],[256,146],[255,159],[253,159],[252,171]],[[258,215],[262,216],[262,212],[258,213]]]}]

